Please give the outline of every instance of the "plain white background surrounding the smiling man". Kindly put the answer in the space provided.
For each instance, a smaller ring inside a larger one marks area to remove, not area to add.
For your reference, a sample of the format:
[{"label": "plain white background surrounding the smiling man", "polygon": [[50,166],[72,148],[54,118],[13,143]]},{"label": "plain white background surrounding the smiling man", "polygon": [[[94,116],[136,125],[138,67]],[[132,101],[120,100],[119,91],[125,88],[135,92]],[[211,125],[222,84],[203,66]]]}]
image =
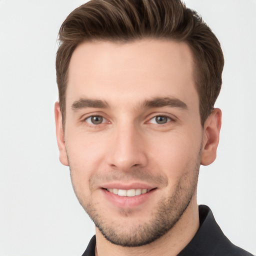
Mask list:
[{"label": "plain white background surrounding the smiling man", "polygon": [[[0,0],[0,255],[80,255],[94,233],[58,161],[57,32],[82,0]],[[202,167],[198,203],[229,239],[256,253],[256,1],[186,0],[222,44],[217,159]]]}]

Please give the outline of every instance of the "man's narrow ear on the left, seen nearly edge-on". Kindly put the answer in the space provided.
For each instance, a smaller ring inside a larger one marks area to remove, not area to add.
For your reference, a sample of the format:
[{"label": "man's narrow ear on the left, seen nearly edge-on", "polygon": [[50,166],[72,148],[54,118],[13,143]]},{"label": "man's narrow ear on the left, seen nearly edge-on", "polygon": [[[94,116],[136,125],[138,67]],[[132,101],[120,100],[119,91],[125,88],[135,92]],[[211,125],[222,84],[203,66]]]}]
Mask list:
[{"label": "man's narrow ear on the left, seen nearly edge-on", "polygon": [[54,115],[55,115],[55,125],[56,125],[56,137],[59,151],[59,160],[62,164],[68,166],[65,140],[64,140],[64,131],[62,126],[62,115],[60,112],[59,102],[54,104]]}]

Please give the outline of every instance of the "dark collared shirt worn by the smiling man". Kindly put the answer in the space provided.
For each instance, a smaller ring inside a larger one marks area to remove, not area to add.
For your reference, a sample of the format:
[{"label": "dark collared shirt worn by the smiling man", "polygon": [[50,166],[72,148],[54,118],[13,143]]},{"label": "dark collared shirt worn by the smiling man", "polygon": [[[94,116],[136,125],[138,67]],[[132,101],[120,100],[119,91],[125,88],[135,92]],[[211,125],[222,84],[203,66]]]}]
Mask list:
[{"label": "dark collared shirt worn by the smiling man", "polygon": [[[208,206],[199,205],[199,221],[196,234],[177,256],[253,256],[227,239]],[[94,235],[82,256],[95,256],[95,244]]]}]

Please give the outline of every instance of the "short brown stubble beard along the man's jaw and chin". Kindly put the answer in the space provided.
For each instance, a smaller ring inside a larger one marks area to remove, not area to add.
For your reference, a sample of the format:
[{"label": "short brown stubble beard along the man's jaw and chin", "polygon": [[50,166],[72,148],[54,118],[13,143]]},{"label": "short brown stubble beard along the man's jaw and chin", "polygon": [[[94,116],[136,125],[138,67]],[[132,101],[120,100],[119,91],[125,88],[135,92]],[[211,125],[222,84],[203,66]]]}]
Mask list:
[{"label": "short brown stubble beard along the man's jaw and chin", "polygon": [[78,193],[76,193],[76,196],[95,226],[109,242],[127,247],[145,245],[168,232],[180,219],[196,192],[199,165],[197,161],[193,168],[189,168],[180,177],[175,190],[170,192],[172,194],[169,197],[162,196],[159,198],[155,205],[156,210],[148,213],[152,215],[149,221],[136,225],[131,224],[130,227],[128,227],[128,221],[132,211],[120,211],[123,216],[127,217],[127,221],[124,221],[124,223],[115,222],[115,220],[109,222],[108,216],[105,216],[102,210],[95,207],[93,201],[85,203],[78,196]]}]

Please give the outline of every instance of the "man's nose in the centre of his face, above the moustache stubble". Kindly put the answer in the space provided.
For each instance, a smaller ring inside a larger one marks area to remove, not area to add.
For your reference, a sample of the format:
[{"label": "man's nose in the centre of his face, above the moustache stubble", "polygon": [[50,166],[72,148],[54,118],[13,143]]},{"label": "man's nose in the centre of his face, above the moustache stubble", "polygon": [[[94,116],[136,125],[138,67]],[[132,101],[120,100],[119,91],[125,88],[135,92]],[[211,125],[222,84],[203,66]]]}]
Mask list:
[{"label": "man's nose in the centre of his face, above the moustache stubble", "polygon": [[118,125],[112,130],[109,139],[107,164],[111,168],[129,171],[135,166],[144,167],[147,164],[146,145],[142,132],[133,124]]}]

